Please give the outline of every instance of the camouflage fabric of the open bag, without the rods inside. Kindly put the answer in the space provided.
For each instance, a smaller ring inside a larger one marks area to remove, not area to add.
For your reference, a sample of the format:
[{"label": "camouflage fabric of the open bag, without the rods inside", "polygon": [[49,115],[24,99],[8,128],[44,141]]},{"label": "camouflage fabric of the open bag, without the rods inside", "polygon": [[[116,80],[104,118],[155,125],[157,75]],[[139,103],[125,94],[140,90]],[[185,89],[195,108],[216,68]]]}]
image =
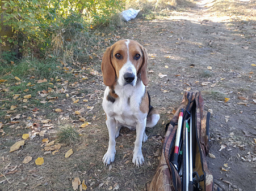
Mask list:
[{"label": "camouflage fabric of the open bag, without the rods inside", "polygon": [[[207,134],[207,111],[204,111],[204,101],[200,92],[185,92],[181,105],[177,108],[170,124],[167,127],[165,140],[163,141],[162,155],[160,163],[151,183],[148,184],[148,190],[182,190],[182,182],[179,173],[173,166],[171,161],[171,153],[174,149],[175,134],[177,130],[177,123],[179,118],[179,111],[181,108],[185,110],[183,115],[187,119],[192,107],[195,105],[195,119],[196,119],[196,159],[195,168],[193,171],[198,172],[199,176],[204,175],[204,181],[200,182],[205,191],[213,190],[213,175],[209,171],[206,162],[206,155],[209,152],[209,137]],[[194,108],[194,107],[193,107]],[[184,137],[184,134],[183,134]]]}]

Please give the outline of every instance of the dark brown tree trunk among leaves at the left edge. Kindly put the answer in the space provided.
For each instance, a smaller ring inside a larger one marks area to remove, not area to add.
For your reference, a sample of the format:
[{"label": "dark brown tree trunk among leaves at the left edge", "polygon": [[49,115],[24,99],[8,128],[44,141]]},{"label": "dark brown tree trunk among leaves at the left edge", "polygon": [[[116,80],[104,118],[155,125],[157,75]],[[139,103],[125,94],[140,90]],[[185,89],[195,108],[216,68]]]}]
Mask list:
[{"label": "dark brown tree trunk among leaves at the left edge", "polygon": [[[1,13],[5,11],[5,3],[1,2]],[[12,31],[12,27],[9,25],[4,25],[3,21],[5,21],[5,18],[3,18],[4,14],[1,14],[0,18],[0,39],[2,40],[2,44],[0,44],[0,51],[10,51],[12,50],[13,44],[7,41],[8,38],[11,38],[14,36],[14,32]],[[5,37],[3,37],[5,36]],[[7,37],[6,37],[7,36]]]}]

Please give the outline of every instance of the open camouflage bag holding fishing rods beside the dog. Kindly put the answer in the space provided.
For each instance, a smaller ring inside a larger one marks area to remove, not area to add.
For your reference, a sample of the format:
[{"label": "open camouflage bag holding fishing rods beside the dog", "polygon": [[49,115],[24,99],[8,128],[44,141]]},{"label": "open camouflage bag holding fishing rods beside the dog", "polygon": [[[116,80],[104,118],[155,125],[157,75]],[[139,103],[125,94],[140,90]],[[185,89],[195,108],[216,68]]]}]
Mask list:
[{"label": "open camouflage bag holding fishing rods beside the dog", "polygon": [[[177,129],[181,111],[183,111],[182,131],[177,163],[177,157],[176,161],[173,160],[175,150],[177,149],[175,137],[178,133]],[[185,92],[181,105],[170,120],[170,123],[166,124],[166,134],[160,162],[151,183],[147,186],[148,190],[213,190],[213,175],[209,171],[205,159],[209,152],[209,119],[210,113],[204,111],[204,101],[201,93]],[[186,136],[188,136],[186,134],[188,121],[191,121],[188,126],[192,126],[192,138],[186,139]],[[192,141],[192,147],[189,148],[192,152],[190,150],[186,152],[186,140]],[[192,153],[191,162],[189,160],[190,163],[186,162],[186,157],[189,155],[188,152]],[[186,169],[190,167],[193,173],[187,175]],[[192,177],[192,180],[190,179],[188,183],[187,176]],[[186,189],[187,186],[188,188]]]}]

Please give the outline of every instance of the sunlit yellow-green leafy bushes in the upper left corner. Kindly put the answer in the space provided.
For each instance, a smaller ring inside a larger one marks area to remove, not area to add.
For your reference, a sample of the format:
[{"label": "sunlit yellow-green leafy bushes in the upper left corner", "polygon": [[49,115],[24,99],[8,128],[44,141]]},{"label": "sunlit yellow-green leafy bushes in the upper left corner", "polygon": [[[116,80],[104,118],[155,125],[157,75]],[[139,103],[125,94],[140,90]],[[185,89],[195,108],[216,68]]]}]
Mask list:
[{"label": "sunlit yellow-green leafy bushes in the upper left corner", "polygon": [[120,0],[11,0],[2,4],[4,25],[12,27],[14,36],[1,39],[13,43],[23,55],[37,57],[51,46],[54,33],[69,28],[87,31],[106,23],[123,6]]}]

